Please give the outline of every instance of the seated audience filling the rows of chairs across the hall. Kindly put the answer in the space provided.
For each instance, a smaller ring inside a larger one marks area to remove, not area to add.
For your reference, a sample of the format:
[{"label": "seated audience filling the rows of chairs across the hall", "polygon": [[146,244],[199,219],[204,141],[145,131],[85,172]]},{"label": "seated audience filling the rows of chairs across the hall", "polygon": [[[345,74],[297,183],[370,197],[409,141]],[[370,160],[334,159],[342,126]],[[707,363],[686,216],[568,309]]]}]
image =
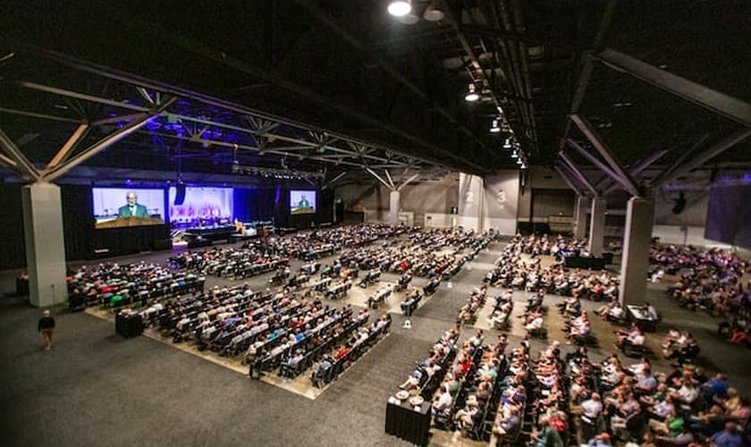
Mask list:
[{"label": "seated audience filling the rows of chairs across the hall", "polygon": [[[395,287],[379,288],[368,304],[375,308],[392,291],[406,291],[401,308],[409,316],[421,299],[493,239],[492,232],[422,232],[379,224],[330,228],[249,240],[236,248],[189,251],[166,266],[81,267],[70,274],[69,291],[77,305],[131,304],[146,325],[173,342],[238,358],[253,377],[275,374],[287,380],[307,375],[311,384],[322,386],[391,325],[388,314],[372,321],[369,309],[333,307],[324,296],[341,296],[358,276],[366,287],[378,283],[382,272],[400,274]],[[337,252],[330,264],[316,262]],[[544,261],[544,256],[552,259]],[[691,363],[698,352],[691,333],[671,330],[663,341],[663,354],[675,361],[669,373],[652,367],[641,350],[645,335],[637,325],[616,333],[617,347],[637,361],[628,364],[616,354],[601,362],[589,358],[593,334],[581,299],[609,302],[597,313],[622,323],[619,284],[607,271],[564,268],[567,256],[587,256],[583,241],[514,237],[485,283],[469,293],[456,328],[444,333],[418,362],[398,395],[403,398],[406,392],[409,398],[430,401],[437,428],[508,445],[519,445],[526,437],[538,447],[567,445],[577,437],[593,447],[607,447],[615,439],[646,447],[745,445],[749,402],[725,376],[707,375]],[[292,258],[308,262],[300,274],[291,274]],[[725,316],[725,334],[733,342],[748,342],[751,282],[742,282],[747,264],[736,254],[654,246],[651,262],[653,281],[665,274],[678,276],[668,291],[681,306]],[[274,289],[252,291],[236,285],[204,291],[204,275],[237,278],[266,272],[274,272],[269,280]],[[409,285],[413,276],[426,277],[422,291]],[[490,286],[502,291],[490,298]],[[488,299],[494,300],[488,323],[503,329],[514,307],[514,290],[530,292],[521,316],[527,336],[518,348],[507,352],[505,334],[486,345],[479,330],[460,342],[460,326],[475,324]],[[559,306],[566,320],[564,335],[576,346],[564,355],[559,343],[552,342],[533,356],[529,339],[547,338],[543,300],[549,293],[566,297]],[[531,434],[523,430],[526,421],[531,421]]]}]

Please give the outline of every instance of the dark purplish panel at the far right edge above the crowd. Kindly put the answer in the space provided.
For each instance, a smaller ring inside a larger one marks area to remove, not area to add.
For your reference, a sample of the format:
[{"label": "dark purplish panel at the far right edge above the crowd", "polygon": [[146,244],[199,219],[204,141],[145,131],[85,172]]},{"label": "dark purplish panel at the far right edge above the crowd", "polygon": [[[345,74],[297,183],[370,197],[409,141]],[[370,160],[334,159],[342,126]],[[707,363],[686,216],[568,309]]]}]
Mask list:
[{"label": "dark purplish panel at the far right edge above the crowd", "polygon": [[751,184],[715,185],[709,190],[705,239],[751,249]]}]

